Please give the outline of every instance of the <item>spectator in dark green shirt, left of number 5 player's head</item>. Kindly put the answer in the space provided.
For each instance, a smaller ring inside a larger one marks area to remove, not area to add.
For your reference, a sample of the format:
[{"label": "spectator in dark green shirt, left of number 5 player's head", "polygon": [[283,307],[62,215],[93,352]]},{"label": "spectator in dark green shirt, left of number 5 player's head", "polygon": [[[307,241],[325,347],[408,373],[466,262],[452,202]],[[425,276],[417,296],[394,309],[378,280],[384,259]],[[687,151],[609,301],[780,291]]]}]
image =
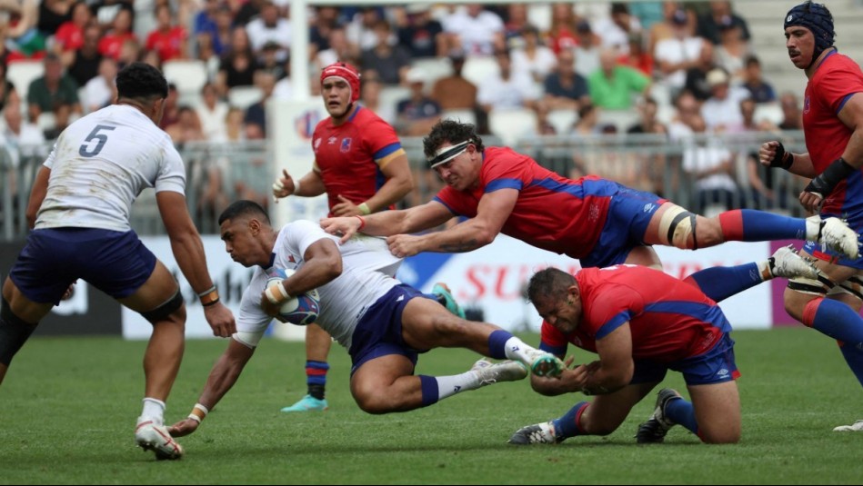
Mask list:
[{"label": "spectator in dark green shirt, left of number 5 player's head", "polygon": [[37,77],[27,90],[27,114],[31,122],[36,122],[40,114],[53,113],[59,123],[68,113],[81,114],[78,101],[78,85],[67,74],[63,74],[63,64],[54,53],[45,55],[45,74]]}]

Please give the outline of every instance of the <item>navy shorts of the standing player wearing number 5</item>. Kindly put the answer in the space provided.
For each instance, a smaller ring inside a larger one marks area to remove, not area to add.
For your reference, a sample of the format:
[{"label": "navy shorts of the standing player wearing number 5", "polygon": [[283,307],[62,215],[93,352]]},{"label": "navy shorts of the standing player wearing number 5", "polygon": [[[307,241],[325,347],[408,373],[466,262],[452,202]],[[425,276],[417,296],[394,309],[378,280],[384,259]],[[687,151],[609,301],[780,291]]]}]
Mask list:
[{"label": "navy shorts of the standing player wearing number 5", "polygon": [[135,293],[156,268],[156,255],[134,231],[95,228],[34,230],[9,278],[35,303],[60,303],[76,279],[115,299]]}]

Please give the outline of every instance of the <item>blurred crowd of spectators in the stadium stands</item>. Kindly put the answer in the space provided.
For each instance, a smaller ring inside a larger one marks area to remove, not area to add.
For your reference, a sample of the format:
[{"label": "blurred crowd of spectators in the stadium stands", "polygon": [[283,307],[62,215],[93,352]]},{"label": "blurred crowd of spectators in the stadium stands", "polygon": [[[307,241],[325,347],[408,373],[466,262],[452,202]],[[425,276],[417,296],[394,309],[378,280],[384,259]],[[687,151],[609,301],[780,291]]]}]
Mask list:
[{"label": "blurred crowd of spectators in the stadium stands", "polygon": [[[744,199],[778,205],[758,175],[757,154],[710,142],[710,134],[801,128],[797,94],[777,94],[764,79],[747,22],[730,2],[560,3],[542,5],[539,17],[536,8],[310,7],[302,54],[310,95],[319,94],[320,69],[340,60],[361,70],[361,104],[401,136],[425,135],[454,117],[507,144],[547,134],[698,139],[680,162],[697,187],[694,210]],[[266,101],[292,96],[290,55],[300,55],[291,48],[289,11],[287,0],[0,2],[3,139],[50,141],[112,103],[114,76],[133,61],[176,83],[160,125],[175,144],[265,139]],[[15,75],[25,64],[36,73]],[[759,107],[771,115],[756,117]],[[570,165],[567,175],[663,193],[664,164],[587,151]],[[262,194],[241,195],[266,204]]]}]

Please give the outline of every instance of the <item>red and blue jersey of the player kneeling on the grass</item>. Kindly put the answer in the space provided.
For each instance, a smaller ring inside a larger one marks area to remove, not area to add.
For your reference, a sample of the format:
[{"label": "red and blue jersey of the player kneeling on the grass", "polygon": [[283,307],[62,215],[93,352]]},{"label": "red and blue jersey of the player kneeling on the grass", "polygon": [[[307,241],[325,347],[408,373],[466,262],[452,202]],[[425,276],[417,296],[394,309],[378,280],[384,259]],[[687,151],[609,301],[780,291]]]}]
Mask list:
[{"label": "red and blue jersey of the player kneeling on the grass", "polygon": [[587,268],[576,274],[582,315],[569,334],[542,323],[540,349],[563,356],[567,344],[597,352],[597,340],[626,322],[632,358],[677,362],[710,351],[731,332],[717,303],[695,285],[636,265]]}]

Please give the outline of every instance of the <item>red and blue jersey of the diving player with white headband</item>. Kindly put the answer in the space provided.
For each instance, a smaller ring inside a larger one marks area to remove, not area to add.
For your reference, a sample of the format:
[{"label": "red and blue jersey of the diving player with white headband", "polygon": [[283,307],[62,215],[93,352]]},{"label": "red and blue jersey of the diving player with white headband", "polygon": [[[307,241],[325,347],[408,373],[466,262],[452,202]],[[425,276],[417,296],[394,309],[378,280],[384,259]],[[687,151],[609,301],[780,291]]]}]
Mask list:
[{"label": "red and blue jersey of the diving player with white headband", "polygon": [[444,187],[435,200],[462,216],[477,216],[485,193],[516,189],[518,199],[501,233],[550,252],[584,258],[599,240],[617,183],[588,175],[572,180],[506,147],[487,147],[477,186]]}]

